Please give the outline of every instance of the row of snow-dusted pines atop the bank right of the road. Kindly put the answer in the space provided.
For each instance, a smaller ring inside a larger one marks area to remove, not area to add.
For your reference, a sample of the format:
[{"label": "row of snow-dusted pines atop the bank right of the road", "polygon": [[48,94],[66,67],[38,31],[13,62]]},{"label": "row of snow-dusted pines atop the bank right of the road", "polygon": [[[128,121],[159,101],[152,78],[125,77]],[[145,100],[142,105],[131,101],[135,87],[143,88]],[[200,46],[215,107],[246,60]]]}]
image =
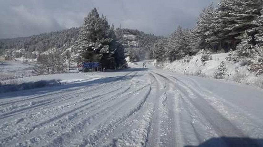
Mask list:
[{"label": "row of snow-dusted pines atop the bank right of the road", "polygon": [[[198,51],[228,52],[246,50],[240,47],[248,39],[252,47],[261,47],[263,19],[262,0],[221,0],[203,9],[192,29],[177,30],[159,39],[153,48],[157,61],[174,61]],[[241,43],[241,44],[240,44]]]}]

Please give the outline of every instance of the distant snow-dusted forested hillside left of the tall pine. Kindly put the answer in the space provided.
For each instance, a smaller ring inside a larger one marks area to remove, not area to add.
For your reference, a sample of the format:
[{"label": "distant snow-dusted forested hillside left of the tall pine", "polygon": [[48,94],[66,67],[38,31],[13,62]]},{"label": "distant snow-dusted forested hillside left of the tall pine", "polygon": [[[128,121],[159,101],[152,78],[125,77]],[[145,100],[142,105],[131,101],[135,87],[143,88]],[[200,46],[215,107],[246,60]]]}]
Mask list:
[{"label": "distant snow-dusted forested hillside left of the tall pine", "polygon": [[[6,54],[10,58],[24,57],[35,59],[37,55],[56,48],[64,50],[74,45],[80,28],[54,31],[29,37],[0,39],[0,55]],[[22,52],[15,52],[22,49]],[[2,52],[1,52],[2,51]]]}]

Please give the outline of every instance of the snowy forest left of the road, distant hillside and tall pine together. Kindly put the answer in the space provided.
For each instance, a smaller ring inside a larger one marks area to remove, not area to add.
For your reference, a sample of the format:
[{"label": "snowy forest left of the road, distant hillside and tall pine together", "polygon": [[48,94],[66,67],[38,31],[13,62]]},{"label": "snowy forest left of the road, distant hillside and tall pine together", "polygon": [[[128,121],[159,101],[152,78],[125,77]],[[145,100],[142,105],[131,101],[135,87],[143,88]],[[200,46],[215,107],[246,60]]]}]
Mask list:
[{"label": "snowy forest left of the road, distant hillside and tall pine together", "polygon": [[[134,35],[135,38],[130,40],[125,38],[125,35]],[[115,29],[114,25],[110,26],[106,17],[100,16],[94,8],[84,18],[81,27],[29,37],[1,39],[0,53],[10,57],[8,59],[37,59],[34,70],[36,74],[68,72],[72,64],[89,61],[100,62],[100,70],[117,69],[126,63],[127,56],[134,55],[127,48],[135,47],[140,50],[140,55],[145,57],[147,54],[147,58],[152,58],[152,45],[156,40],[155,35],[142,31],[121,27]],[[135,41],[138,46],[129,44],[131,41]],[[67,50],[69,48],[70,50]]]}]

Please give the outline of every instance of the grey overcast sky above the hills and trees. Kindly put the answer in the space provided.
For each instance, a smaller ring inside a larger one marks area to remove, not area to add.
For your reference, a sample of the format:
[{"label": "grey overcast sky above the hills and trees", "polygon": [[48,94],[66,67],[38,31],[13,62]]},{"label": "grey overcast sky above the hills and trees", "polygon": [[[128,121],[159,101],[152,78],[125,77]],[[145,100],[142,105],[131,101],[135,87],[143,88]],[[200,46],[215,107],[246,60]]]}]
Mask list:
[{"label": "grey overcast sky above the hills and trees", "polygon": [[93,7],[116,27],[170,35],[193,27],[200,11],[219,0],[0,0],[0,38],[79,27]]}]

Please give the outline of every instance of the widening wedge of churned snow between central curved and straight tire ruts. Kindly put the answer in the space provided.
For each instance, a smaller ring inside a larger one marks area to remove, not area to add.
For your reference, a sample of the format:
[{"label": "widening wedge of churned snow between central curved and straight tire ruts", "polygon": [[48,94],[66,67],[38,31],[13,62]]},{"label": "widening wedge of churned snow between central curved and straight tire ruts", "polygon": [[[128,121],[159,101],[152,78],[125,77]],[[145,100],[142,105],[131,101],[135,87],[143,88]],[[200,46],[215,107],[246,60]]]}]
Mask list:
[{"label": "widening wedge of churned snow between central curved and straight tire ruts", "polygon": [[121,123],[114,125],[109,135],[100,136],[100,140],[95,141],[93,146],[145,146],[153,114],[154,93],[152,91],[154,87],[150,86],[143,96],[144,99],[140,100],[133,111],[128,112]]}]

